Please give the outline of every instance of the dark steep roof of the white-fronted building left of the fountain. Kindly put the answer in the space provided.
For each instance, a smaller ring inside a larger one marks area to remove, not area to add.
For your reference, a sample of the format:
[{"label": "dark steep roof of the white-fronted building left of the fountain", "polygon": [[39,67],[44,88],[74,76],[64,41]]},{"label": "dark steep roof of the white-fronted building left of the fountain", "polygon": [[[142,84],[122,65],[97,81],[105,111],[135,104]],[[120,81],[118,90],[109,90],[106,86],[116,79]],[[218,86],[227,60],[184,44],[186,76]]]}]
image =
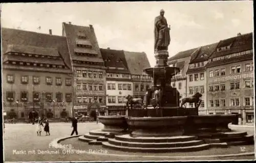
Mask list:
[{"label": "dark steep roof of the white-fronted building left of the fountain", "polygon": [[[111,73],[130,73],[123,51],[112,49],[100,49],[104,64],[106,66],[106,72]],[[109,67],[116,67],[111,69]],[[123,69],[118,69],[123,68]]]}]

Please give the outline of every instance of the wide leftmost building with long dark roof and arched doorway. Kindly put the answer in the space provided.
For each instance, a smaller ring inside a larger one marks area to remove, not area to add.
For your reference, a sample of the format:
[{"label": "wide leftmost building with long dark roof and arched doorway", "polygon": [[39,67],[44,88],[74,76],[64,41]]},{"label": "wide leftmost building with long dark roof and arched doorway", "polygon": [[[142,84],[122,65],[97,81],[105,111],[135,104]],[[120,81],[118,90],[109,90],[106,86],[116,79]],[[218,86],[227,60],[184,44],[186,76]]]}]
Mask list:
[{"label": "wide leftmost building with long dark roof and arched doorway", "polygon": [[3,106],[8,118],[65,118],[73,106],[65,37],[2,28]]}]

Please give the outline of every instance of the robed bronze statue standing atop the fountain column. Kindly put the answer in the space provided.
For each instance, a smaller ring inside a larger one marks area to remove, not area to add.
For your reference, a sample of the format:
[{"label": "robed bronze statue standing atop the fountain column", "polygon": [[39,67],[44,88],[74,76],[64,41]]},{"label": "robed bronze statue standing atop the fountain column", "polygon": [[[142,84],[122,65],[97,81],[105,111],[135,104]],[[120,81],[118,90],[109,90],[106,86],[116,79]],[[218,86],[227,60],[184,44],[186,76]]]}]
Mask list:
[{"label": "robed bronze statue standing atop the fountain column", "polygon": [[168,50],[170,44],[170,28],[165,19],[164,10],[160,11],[160,15],[155,18],[155,52]]}]

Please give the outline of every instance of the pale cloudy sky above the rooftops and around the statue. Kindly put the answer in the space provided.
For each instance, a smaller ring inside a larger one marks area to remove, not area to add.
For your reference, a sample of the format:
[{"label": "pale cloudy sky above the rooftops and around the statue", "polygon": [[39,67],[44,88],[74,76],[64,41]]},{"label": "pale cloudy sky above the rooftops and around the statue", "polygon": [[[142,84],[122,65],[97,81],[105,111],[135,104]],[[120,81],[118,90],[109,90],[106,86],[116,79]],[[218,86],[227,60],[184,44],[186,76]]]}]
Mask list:
[{"label": "pale cloudy sky above the rooftops and around the statue", "polygon": [[[62,22],[93,25],[100,48],[154,57],[154,19],[165,10],[169,56],[253,31],[253,2],[89,2],[1,4],[1,26],[62,35]],[[40,27],[40,28],[38,28]]]}]

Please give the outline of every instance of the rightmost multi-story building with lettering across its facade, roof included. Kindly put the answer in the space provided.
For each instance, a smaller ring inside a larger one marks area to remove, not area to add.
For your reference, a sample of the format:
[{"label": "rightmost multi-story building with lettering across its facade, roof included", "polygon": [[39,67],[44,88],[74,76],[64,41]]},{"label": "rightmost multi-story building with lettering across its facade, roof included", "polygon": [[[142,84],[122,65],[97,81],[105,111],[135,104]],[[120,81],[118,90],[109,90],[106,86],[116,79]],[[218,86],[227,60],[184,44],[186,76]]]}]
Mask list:
[{"label": "rightmost multi-story building with lettering across its facade, roof included", "polygon": [[252,33],[221,40],[209,57],[207,99],[209,114],[241,114],[241,123],[254,120]]}]

